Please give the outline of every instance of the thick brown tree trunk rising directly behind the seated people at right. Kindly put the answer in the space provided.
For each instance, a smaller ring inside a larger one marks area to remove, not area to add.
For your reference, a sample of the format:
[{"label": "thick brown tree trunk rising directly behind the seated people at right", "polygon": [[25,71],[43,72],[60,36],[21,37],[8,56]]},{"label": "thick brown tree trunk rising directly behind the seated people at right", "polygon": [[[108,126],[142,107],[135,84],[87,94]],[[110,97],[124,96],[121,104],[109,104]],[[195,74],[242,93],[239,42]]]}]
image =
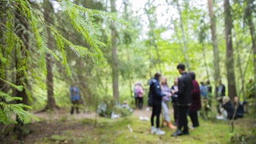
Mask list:
[{"label": "thick brown tree trunk rising directly behind the seated people at right", "polygon": [[226,35],[226,66],[227,66],[227,78],[228,78],[228,95],[233,102],[236,94],[236,81],[234,72],[234,54],[232,45],[232,15],[230,13],[229,0],[224,1],[224,13],[225,13],[225,35]]}]

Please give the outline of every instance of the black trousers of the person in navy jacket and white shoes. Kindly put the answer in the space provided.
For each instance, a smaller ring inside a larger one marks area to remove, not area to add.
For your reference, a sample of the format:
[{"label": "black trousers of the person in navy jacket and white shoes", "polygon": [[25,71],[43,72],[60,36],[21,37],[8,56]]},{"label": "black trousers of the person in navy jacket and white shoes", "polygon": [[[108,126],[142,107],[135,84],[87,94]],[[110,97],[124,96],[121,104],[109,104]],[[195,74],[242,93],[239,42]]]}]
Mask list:
[{"label": "black trousers of the person in navy jacket and white shoes", "polygon": [[156,116],[156,127],[159,128],[160,125],[160,114],[161,114],[161,101],[153,101],[153,110],[151,115],[151,126],[154,126],[154,117]]}]

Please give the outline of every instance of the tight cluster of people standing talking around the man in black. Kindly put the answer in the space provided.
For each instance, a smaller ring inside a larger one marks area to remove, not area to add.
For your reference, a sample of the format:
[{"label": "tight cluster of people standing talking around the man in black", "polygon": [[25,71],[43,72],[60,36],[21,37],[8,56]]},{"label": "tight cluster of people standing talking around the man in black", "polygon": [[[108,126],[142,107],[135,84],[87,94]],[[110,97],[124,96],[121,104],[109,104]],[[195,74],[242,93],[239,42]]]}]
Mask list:
[{"label": "tight cluster of people standing talking around the man in black", "polygon": [[[148,104],[153,108],[151,115],[151,133],[153,134],[165,134],[165,132],[159,128],[159,119],[162,108],[164,111],[164,121],[169,123],[171,129],[176,128],[170,122],[169,111],[166,105],[166,102],[169,101],[170,98],[173,102],[174,124],[175,122],[178,122],[178,129],[172,134],[173,137],[189,134],[188,113],[193,122],[193,126],[199,126],[197,110],[201,108],[201,98],[199,85],[195,81],[195,74],[193,72],[187,73],[185,65],[182,63],[177,66],[177,69],[179,70],[181,77],[175,79],[174,86],[172,86],[171,89],[167,86],[166,78],[163,78],[162,82],[159,83],[161,77],[160,73],[156,73],[154,78],[149,81]],[[155,117],[156,127],[154,124]]]}]

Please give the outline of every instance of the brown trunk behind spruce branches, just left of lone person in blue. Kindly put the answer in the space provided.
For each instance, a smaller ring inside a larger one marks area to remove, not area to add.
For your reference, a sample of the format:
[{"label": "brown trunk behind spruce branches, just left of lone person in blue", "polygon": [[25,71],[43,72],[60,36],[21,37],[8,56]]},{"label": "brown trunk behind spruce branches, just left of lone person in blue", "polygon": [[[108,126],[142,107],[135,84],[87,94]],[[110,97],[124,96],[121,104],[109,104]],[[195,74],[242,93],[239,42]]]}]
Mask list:
[{"label": "brown trunk behind spruce branches, just left of lone person in blue", "polygon": [[[52,21],[50,13],[53,13],[53,7],[52,3],[50,1],[44,0],[44,18],[48,21]],[[47,30],[47,33],[49,34],[49,49],[52,49],[54,47],[53,41],[54,38],[49,33],[49,30]],[[47,104],[44,110],[47,109],[54,109],[56,108],[56,103],[54,99],[54,93],[53,93],[53,74],[52,74],[52,55],[50,53],[46,54],[46,69],[47,69],[47,76],[46,76],[46,86],[47,86]]]}]

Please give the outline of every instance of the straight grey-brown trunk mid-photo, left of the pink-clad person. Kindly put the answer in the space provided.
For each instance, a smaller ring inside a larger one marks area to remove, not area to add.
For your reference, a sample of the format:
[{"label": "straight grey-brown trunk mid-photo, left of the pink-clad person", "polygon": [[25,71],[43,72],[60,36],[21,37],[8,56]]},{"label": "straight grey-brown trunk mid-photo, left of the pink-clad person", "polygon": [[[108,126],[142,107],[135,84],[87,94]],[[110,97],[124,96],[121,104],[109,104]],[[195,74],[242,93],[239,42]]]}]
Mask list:
[{"label": "straight grey-brown trunk mid-photo, left of the pink-clad person", "polygon": [[[110,0],[111,12],[116,12],[115,0]],[[111,48],[112,48],[112,83],[113,83],[113,95],[114,100],[119,101],[119,91],[118,91],[118,58],[117,58],[117,43],[116,43],[116,28],[115,25],[111,25]]]}]

